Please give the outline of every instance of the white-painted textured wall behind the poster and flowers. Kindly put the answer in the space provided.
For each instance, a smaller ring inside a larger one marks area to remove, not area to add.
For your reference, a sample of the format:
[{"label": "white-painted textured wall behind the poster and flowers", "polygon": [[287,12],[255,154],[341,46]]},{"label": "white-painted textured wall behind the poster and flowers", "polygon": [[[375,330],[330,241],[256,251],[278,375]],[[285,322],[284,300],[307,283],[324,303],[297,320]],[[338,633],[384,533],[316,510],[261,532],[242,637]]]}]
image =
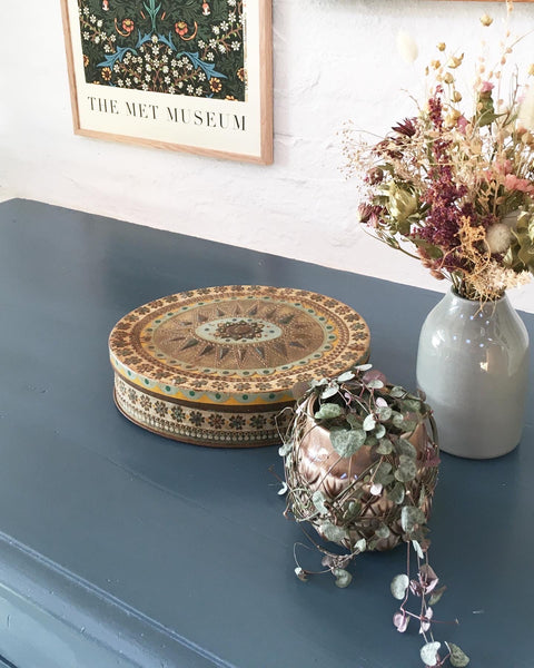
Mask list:
[{"label": "white-painted textured wall behind the poster and flowers", "polygon": [[[265,167],[75,136],[59,0],[2,2],[0,199],[37,199],[445,291],[359,228],[338,132],[353,119],[382,135],[413,114],[405,90],[422,90],[435,45],[462,52],[478,51],[483,36],[496,43],[504,1],[273,3],[275,163]],[[485,12],[495,22],[483,32]],[[516,4],[511,18],[516,33],[534,29],[534,3]],[[400,29],[419,47],[411,66],[395,47]],[[523,71],[533,45],[530,36],[514,52]],[[534,284],[511,297],[534,312]]]}]

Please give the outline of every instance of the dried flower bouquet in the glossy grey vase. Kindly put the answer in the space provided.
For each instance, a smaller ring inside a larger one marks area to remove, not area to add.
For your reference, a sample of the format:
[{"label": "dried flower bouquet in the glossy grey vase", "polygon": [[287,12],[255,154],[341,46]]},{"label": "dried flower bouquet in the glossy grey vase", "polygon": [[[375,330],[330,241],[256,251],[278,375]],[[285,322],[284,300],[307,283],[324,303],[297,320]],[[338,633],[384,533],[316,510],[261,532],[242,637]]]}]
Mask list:
[{"label": "dried flower bouquet in the glossy grey vase", "polygon": [[[534,273],[534,87],[520,85],[515,70],[504,77],[517,41],[508,30],[497,67],[478,60],[467,95],[458,80],[464,53],[438,43],[416,116],[377,144],[345,132],[360,222],[469,299],[500,298]],[[404,50],[416,56],[409,38]]]}]

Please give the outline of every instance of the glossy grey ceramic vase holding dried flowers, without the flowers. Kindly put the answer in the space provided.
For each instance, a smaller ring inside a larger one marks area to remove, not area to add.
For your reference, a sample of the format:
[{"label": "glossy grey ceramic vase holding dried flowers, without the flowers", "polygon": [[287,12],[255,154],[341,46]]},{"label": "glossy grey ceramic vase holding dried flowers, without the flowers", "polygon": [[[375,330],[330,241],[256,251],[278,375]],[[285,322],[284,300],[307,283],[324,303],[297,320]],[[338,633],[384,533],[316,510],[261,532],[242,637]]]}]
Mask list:
[{"label": "glossy grey ceramic vase holding dried flowers, without the flowers", "polygon": [[491,459],[512,451],[523,431],[527,375],[528,334],[506,295],[482,305],[451,291],[423,324],[417,386],[444,452]]}]

